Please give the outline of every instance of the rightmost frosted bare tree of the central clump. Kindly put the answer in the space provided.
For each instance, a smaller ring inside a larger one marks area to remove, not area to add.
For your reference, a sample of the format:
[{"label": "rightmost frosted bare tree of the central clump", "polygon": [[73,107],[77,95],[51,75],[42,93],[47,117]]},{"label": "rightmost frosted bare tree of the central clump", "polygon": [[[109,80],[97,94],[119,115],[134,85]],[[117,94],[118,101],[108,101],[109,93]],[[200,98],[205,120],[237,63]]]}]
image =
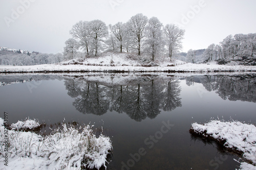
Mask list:
[{"label": "rightmost frosted bare tree of the central clump", "polygon": [[168,48],[168,53],[170,61],[172,61],[172,56],[174,52],[179,52],[182,48],[182,42],[185,30],[179,29],[178,26],[174,24],[167,24],[164,28],[165,35],[165,45]]}]

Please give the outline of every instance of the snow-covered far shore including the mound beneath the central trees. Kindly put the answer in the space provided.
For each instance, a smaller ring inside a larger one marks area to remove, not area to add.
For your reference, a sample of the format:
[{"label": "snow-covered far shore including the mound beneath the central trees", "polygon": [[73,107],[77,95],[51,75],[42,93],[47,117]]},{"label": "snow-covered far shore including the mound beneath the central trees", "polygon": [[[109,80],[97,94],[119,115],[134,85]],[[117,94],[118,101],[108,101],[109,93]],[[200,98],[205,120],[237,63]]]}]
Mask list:
[{"label": "snow-covered far shore including the mound beneath the central trees", "polygon": [[[113,61],[113,62],[112,62]],[[76,63],[76,64],[75,64]],[[170,66],[174,65],[174,66]],[[150,67],[149,67],[150,66]],[[256,66],[218,65],[215,61],[208,64],[185,63],[180,60],[169,61],[162,58],[152,63],[150,60],[128,54],[106,54],[87,59],[74,59],[60,64],[32,66],[0,66],[0,72],[61,72],[61,71],[173,71],[173,72],[214,72],[214,71],[256,71]]]}]

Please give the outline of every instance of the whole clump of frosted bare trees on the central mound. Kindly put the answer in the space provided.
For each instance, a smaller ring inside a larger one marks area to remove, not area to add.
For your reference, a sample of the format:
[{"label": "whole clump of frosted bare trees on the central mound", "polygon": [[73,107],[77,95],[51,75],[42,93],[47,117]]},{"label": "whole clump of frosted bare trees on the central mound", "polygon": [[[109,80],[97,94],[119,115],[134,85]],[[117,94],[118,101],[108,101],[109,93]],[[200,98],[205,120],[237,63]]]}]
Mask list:
[{"label": "whole clump of frosted bare trees on the central mound", "polygon": [[86,56],[97,56],[99,51],[122,53],[125,49],[126,53],[136,52],[138,56],[143,51],[154,60],[165,49],[172,60],[174,53],[182,48],[184,33],[176,25],[163,26],[158,18],[148,19],[143,14],[109,26],[101,20],[79,21],[70,31],[73,38],[66,41],[65,56],[72,59],[79,49]]}]

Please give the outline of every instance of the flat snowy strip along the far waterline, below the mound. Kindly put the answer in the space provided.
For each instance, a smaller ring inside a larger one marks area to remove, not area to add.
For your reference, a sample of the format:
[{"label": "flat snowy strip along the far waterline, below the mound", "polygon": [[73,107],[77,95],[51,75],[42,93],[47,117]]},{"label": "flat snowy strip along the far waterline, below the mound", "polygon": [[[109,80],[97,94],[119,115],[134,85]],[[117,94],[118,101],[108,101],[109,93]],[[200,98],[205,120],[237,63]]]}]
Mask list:
[{"label": "flat snowy strip along the far waterline, below the mound", "polygon": [[[177,64],[177,63],[176,63]],[[179,63],[178,63],[179,64]],[[243,65],[218,65],[214,62],[208,64],[186,63],[175,66],[93,66],[93,65],[61,65],[45,64],[32,66],[0,66],[0,73],[8,72],[88,72],[88,71],[105,71],[105,72],[215,72],[215,71],[256,71],[256,66]]]}]

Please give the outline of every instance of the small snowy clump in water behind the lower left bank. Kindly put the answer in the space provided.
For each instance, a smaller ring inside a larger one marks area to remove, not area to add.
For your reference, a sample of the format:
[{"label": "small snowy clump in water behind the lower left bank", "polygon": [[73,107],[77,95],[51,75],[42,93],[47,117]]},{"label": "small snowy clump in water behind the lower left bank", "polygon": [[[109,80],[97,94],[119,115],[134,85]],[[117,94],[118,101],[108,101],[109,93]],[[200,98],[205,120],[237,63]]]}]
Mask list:
[{"label": "small snowy clump in water behind the lower left bank", "polygon": [[21,129],[36,129],[40,127],[40,124],[34,119],[27,119],[25,121],[18,121],[16,124],[11,125],[12,130],[21,130]]}]

